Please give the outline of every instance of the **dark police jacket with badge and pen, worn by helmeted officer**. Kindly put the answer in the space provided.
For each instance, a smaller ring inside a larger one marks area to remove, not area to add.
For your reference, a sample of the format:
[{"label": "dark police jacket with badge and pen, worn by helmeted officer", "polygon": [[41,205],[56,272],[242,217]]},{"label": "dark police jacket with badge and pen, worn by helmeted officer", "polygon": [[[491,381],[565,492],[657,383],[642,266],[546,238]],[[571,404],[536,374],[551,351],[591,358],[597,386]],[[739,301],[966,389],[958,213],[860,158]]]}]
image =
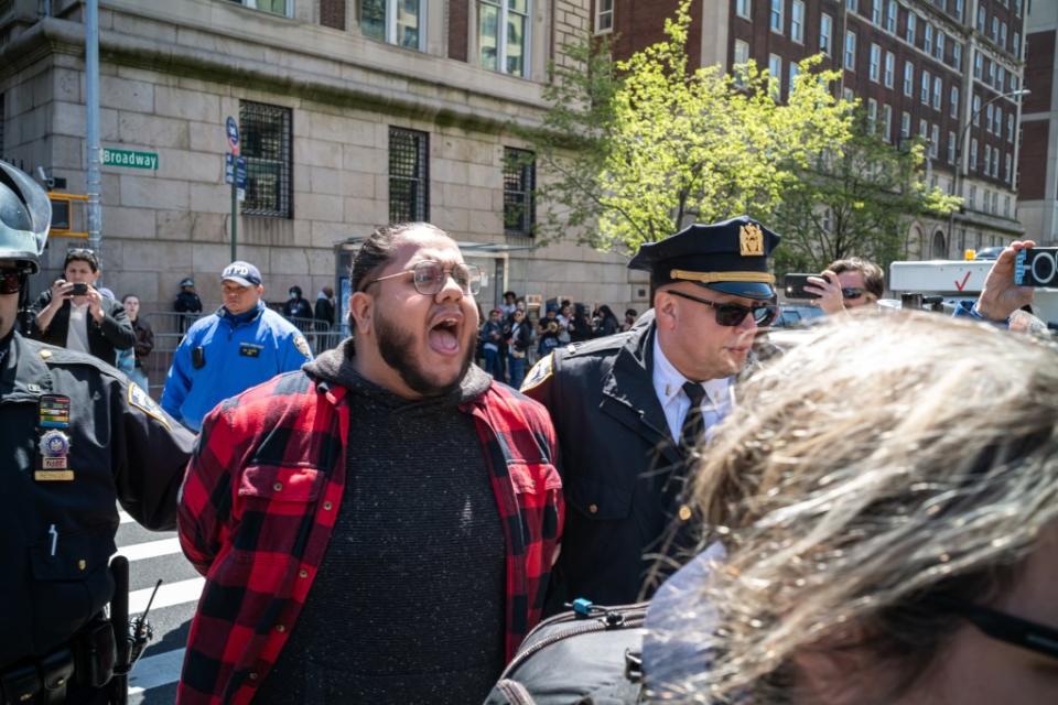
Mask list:
[{"label": "dark police jacket with badge and pen, worn by helmeted officer", "polygon": [[18,333],[0,354],[2,671],[65,644],[111,599],[118,502],[148,529],[175,528],[194,435],[91,355]]}]

